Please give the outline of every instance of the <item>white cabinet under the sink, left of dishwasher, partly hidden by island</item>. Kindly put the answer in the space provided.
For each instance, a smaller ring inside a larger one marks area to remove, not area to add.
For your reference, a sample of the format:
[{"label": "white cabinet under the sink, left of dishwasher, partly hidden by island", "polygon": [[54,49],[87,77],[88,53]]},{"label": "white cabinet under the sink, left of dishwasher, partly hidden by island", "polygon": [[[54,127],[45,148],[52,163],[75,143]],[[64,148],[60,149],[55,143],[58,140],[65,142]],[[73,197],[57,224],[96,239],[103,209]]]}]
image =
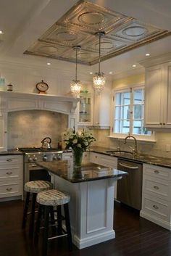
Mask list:
[{"label": "white cabinet under the sink, left of dishwasher, partly hidden by island", "polygon": [[[110,157],[105,154],[91,152],[90,162],[93,162],[98,165],[104,165],[109,168],[117,169],[117,157]],[[114,183],[114,199],[117,199],[117,181]]]}]

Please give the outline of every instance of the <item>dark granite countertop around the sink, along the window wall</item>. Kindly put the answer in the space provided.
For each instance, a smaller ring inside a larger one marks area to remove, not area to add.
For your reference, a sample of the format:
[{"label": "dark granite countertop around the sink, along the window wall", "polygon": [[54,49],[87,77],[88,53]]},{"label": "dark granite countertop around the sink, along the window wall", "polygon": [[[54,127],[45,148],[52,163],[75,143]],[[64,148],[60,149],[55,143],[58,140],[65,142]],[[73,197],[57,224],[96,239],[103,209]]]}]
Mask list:
[{"label": "dark granite countertop around the sink, along the window wall", "polygon": [[[165,168],[171,168],[171,159],[167,157],[157,157],[150,154],[139,153],[136,157],[132,152],[118,152],[117,149],[106,148],[103,146],[91,146],[91,152],[106,154],[112,157],[120,157],[125,160],[132,160],[133,162],[142,162],[149,165],[158,165]],[[107,152],[110,151],[110,152]],[[112,152],[113,151],[113,152]]]}]

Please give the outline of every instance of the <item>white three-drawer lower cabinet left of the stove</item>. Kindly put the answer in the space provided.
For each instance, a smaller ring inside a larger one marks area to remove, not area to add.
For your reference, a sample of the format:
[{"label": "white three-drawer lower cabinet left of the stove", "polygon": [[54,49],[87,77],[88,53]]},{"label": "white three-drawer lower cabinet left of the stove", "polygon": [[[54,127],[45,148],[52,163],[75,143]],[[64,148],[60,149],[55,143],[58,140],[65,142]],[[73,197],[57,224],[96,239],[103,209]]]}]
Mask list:
[{"label": "white three-drawer lower cabinet left of the stove", "polygon": [[23,156],[0,156],[0,200],[23,196]]}]

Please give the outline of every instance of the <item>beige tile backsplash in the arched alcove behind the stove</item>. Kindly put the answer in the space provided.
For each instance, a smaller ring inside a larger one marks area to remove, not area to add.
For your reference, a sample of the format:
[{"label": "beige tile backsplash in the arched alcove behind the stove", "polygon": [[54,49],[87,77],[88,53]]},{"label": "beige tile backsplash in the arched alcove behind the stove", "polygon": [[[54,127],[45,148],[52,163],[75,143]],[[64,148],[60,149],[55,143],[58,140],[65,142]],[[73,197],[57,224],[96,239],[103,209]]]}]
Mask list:
[{"label": "beige tile backsplash in the arched alcove behind the stove", "polygon": [[67,115],[44,110],[25,110],[8,114],[8,149],[41,146],[44,137],[51,137],[57,147],[68,125]]}]

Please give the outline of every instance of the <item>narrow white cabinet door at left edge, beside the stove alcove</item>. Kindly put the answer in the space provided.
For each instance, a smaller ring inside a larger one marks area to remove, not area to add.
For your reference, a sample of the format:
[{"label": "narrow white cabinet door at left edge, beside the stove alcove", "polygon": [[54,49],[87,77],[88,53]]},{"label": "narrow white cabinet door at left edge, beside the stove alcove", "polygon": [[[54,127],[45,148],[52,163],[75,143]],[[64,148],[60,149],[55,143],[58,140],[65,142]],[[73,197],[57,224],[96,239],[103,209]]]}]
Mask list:
[{"label": "narrow white cabinet door at left edge, beside the stove alcove", "polygon": [[7,113],[0,113],[0,152],[7,151]]}]

